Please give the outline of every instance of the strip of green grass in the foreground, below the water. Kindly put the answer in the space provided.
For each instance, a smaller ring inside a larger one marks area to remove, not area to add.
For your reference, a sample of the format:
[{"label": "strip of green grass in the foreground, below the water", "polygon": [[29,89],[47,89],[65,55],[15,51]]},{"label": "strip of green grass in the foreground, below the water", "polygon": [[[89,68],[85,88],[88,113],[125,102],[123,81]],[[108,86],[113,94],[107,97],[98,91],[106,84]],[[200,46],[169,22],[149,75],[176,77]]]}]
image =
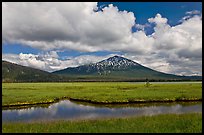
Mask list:
[{"label": "strip of green grass in the foreground, below the water", "polygon": [[201,133],[202,113],[2,124],[3,133]]}]

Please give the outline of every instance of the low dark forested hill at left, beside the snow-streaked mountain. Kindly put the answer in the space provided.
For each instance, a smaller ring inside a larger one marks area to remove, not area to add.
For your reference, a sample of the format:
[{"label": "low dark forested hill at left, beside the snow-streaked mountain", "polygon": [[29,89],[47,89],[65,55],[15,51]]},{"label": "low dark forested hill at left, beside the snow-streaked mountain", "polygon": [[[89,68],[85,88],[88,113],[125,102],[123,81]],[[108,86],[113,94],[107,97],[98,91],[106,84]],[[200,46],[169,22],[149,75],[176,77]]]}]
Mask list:
[{"label": "low dark forested hill at left, beside the snow-streaked mountain", "polygon": [[2,82],[52,82],[63,77],[52,73],[2,61]]}]

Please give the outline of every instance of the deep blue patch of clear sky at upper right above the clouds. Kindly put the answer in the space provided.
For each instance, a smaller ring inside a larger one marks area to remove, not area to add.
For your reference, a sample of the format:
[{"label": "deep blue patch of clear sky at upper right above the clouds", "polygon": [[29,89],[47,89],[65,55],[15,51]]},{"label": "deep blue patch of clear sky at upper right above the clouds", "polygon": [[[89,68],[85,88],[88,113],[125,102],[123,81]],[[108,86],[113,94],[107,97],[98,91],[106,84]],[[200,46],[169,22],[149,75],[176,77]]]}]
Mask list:
[{"label": "deep blue patch of clear sky at upper right above the clouds", "polygon": [[[134,12],[136,22],[145,24],[148,18],[160,13],[169,19],[170,25],[178,24],[187,11],[202,10],[201,2],[111,2],[119,10]],[[99,2],[98,5],[108,5],[110,2]]]}]

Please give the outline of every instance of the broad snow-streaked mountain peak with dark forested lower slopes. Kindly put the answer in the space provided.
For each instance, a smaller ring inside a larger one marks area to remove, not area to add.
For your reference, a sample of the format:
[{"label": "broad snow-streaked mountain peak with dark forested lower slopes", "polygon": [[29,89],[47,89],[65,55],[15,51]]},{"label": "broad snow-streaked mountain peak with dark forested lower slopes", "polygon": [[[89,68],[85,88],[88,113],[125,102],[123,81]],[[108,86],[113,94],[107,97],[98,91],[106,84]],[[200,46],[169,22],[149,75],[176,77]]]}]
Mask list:
[{"label": "broad snow-streaked mountain peak with dark forested lower slopes", "polygon": [[186,77],[166,74],[142,66],[137,62],[120,56],[113,56],[97,63],[69,67],[53,72],[85,80],[196,80],[202,77]]}]

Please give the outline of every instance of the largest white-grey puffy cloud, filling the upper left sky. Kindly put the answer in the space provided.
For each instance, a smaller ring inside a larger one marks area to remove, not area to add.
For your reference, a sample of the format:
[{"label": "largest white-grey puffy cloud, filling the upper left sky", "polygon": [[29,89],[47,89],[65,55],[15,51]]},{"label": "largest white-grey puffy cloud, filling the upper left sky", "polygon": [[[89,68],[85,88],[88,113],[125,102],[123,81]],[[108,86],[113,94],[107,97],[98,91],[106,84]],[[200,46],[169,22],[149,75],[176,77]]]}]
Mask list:
[{"label": "largest white-grey puffy cloud, filling the upper left sky", "polygon": [[[97,3],[4,3],[3,41],[42,50],[72,49],[84,52],[128,50],[135,23],[132,12],[110,4],[94,12]],[[138,46],[134,44],[130,46]]]}]

